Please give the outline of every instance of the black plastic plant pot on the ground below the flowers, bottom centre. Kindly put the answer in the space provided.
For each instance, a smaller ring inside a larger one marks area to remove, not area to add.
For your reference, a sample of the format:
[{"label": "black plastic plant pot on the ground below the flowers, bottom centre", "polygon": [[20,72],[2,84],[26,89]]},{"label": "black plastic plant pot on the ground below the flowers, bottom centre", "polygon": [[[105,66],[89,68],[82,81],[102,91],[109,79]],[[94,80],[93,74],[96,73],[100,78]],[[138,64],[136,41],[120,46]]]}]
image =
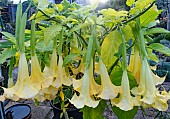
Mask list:
[{"label": "black plastic plant pot on the ground below the flowers, bottom centre", "polygon": [[[60,110],[59,108],[57,108],[55,105],[53,105],[52,102],[50,102],[52,108],[53,108],[53,112],[54,112],[54,117],[53,119],[60,119],[60,114],[62,113],[62,110]],[[83,119],[83,113],[79,112],[80,109],[71,109],[71,110],[67,110],[67,114],[69,119]],[[62,116],[61,119],[65,119],[64,115]]]}]

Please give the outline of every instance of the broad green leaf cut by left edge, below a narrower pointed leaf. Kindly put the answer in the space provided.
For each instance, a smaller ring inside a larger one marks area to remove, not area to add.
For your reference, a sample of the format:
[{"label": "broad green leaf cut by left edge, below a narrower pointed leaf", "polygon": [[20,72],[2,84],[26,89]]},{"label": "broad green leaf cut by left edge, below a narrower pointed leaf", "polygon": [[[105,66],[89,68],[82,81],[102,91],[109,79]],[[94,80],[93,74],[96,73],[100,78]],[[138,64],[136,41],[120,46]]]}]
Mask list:
[{"label": "broad green leaf cut by left edge, below a narrower pointed leaf", "polygon": [[0,54],[0,64],[3,64],[6,59],[15,56],[16,49],[6,49],[2,51],[2,54]]}]

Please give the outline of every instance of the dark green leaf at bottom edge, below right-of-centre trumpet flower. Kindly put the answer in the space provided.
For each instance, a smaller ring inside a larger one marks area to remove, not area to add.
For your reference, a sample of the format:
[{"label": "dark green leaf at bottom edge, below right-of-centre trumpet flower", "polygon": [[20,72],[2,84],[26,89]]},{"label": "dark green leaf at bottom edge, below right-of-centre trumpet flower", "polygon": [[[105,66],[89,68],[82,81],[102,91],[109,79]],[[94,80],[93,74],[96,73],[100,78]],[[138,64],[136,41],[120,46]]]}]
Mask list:
[{"label": "dark green leaf at bottom edge, below right-of-centre trumpet flower", "polygon": [[138,111],[138,107],[134,107],[130,111],[123,111],[118,107],[113,107],[112,110],[115,113],[115,115],[118,117],[118,119],[134,119],[134,116]]}]

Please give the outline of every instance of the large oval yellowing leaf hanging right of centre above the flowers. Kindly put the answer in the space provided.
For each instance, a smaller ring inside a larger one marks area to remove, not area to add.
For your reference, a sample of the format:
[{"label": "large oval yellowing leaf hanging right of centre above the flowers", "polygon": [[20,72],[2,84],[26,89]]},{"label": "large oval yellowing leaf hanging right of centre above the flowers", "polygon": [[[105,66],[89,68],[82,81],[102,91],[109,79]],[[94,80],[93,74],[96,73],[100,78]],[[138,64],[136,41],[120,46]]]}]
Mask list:
[{"label": "large oval yellowing leaf hanging right of centre above the flowers", "polygon": [[118,31],[113,31],[106,36],[101,49],[101,55],[105,65],[111,66],[116,61],[117,57],[114,54],[118,52],[121,43],[121,35]]}]

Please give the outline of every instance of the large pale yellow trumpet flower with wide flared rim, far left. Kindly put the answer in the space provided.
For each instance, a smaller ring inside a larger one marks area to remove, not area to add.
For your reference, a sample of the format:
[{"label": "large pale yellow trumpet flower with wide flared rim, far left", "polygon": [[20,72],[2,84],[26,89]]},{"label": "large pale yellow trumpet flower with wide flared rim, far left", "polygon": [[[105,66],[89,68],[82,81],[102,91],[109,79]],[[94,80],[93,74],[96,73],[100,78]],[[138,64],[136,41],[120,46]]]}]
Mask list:
[{"label": "large pale yellow trumpet flower with wide flared rim, far left", "polygon": [[4,96],[12,100],[29,99],[38,94],[40,88],[32,83],[29,78],[28,65],[25,53],[20,53],[18,79],[16,84],[11,88],[4,88]]}]

